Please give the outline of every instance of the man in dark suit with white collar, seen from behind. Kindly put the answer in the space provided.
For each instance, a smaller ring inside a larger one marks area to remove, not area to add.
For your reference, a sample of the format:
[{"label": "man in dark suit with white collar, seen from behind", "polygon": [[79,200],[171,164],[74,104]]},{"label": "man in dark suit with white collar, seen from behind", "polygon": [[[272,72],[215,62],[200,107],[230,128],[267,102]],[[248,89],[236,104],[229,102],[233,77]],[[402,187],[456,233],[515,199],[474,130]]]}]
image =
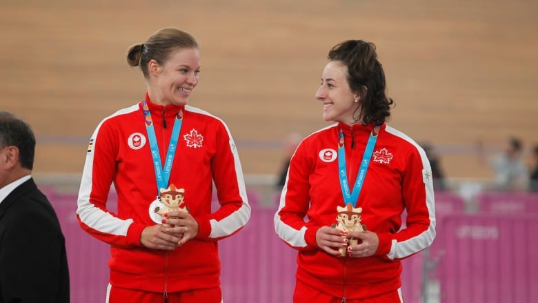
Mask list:
[{"label": "man in dark suit with white collar, seen from behind", "polygon": [[0,111],[0,303],[69,302],[66,244],[30,175],[34,150],[30,126]]}]

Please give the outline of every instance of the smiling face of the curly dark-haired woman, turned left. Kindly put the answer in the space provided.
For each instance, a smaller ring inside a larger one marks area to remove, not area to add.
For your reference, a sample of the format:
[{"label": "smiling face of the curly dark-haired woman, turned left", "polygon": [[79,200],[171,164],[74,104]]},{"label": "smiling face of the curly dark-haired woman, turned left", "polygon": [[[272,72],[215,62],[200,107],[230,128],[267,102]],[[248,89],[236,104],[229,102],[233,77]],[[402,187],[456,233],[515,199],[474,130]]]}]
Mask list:
[{"label": "smiling face of the curly dark-haired woman, turned left", "polygon": [[347,75],[347,66],[343,66],[339,61],[330,61],[323,69],[316,99],[323,104],[325,121],[339,121],[349,125],[355,123],[354,113],[359,107],[360,99],[359,95],[351,91]]}]

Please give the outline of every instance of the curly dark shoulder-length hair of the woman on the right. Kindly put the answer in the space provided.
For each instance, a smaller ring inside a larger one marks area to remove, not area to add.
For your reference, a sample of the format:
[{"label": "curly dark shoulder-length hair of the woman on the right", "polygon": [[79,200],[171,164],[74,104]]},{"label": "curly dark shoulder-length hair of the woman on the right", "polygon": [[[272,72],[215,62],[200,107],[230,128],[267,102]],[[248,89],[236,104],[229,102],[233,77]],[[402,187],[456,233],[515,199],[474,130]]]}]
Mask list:
[{"label": "curly dark shoulder-length hair of the woman on the right", "polygon": [[385,72],[377,60],[375,45],[363,40],[348,40],[333,46],[327,55],[348,68],[348,85],[361,96],[355,122],[383,124],[390,117],[394,101],[386,96]]}]

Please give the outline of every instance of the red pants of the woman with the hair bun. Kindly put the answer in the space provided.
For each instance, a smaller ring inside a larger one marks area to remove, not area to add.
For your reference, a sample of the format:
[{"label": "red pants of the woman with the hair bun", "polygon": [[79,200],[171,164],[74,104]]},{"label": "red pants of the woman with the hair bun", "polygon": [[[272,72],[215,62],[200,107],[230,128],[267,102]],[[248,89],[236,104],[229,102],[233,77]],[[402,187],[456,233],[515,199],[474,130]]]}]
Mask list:
[{"label": "red pants of the woman with the hair bun", "polygon": [[121,289],[108,285],[106,303],[221,303],[222,293],[220,287],[212,289],[196,289],[193,291],[183,291],[181,293],[168,293],[168,297],[163,297],[163,293],[149,293],[137,291],[135,289]]}]

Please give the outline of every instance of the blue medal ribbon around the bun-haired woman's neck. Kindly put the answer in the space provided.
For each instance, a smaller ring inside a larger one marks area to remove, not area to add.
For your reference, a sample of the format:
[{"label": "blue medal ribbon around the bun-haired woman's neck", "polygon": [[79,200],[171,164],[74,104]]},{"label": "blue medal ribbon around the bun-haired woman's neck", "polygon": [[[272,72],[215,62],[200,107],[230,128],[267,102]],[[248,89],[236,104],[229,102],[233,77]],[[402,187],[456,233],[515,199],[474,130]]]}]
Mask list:
[{"label": "blue medal ribbon around the bun-haired woman's neck", "polygon": [[146,100],[143,101],[142,111],[144,114],[144,121],[146,122],[146,130],[148,131],[148,140],[150,141],[153,166],[155,167],[157,193],[160,196],[159,188],[168,188],[168,181],[170,180],[170,172],[172,170],[172,162],[174,162],[174,155],[176,153],[177,139],[179,138],[179,132],[181,131],[181,124],[183,124],[183,108],[179,110],[176,115],[176,120],[174,121],[172,137],[170,137],[170,144],[168,145],[168,152],[166,153],[164,166],[161,163],[161,154],[159,153],[157,138],[155,137],[155,128],[153,127],[153,120],[151,119],[150,109],[148,108],[148,103]]}]

